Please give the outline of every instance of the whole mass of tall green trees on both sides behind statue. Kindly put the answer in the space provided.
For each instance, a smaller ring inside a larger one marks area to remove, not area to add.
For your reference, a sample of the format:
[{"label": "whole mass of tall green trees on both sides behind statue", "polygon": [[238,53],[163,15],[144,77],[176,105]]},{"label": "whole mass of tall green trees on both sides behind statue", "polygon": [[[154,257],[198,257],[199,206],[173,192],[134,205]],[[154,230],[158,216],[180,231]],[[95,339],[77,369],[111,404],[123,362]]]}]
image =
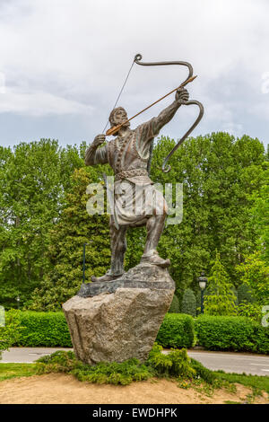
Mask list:
[{"label": "whole mass of tall green trees on both sides behind statue", "polygon": [[[163,173],[163,157],[175,145],[157,140],[152,180],[183,183],[181,224],[167,225],[159,252],[170,257],[177,295],[198,291],[196,277],[209,274],[214,251],[220,252],[230,282],[239,286],[236,266],[257,249],[266,259],[268,175],[264,146],[249,136],[227,133],[189,138]],[[0,303],[60,309],[82,282],[82,244],[87,247],[87,279],[109,267],[108,218],[87,215],[89,182],[101,180],[108,166],[84,167],[86,145],[60,148],[56,141],[0,147]],[[127,234],[126,269],[143,252],[144,228]],[[268,236],[267,236],[268,237]],[[91,241],[91,242],[90,242]],[[100,253],[101,251],[101,253]],[[32,295],[35,291],[34,295]]]}]

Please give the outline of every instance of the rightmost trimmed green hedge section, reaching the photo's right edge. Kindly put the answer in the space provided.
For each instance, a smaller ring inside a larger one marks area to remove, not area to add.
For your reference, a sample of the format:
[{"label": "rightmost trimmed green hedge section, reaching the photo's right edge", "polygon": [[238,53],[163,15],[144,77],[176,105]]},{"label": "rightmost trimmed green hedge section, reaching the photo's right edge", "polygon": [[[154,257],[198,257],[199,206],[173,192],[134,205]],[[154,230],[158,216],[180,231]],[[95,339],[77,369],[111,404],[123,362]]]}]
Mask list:
[{"label": "rightmost trimmed green hedge section, reaching the photo's right edge", "polygon": [[269,329],[248,318],[200,315],[195,332],[207,350],[269,353]]}]

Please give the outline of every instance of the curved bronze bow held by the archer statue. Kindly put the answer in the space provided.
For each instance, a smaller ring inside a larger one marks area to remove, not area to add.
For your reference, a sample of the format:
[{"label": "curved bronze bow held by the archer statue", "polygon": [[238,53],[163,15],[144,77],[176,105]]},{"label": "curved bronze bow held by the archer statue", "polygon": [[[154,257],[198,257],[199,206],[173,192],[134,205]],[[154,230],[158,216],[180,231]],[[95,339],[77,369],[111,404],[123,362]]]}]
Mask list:
[{"label": "curved bronze bow held by the archer statue", "polygon": [[[190,63],[183,62],[183,61],[145,63],[145,62],[142,62],[141,60],[142,60],[142,55],[136,54],[136,56],[134,57],[134,63],[136,63],[136,65],[140,65],[140,66],[169,66],[169,65],[187,66],[188,75],[187,75],[186,81],[184,81],[184,82],[187,82],[187,80],[190,79],[193,76],[193,73],[194,73],[193,66],[191,66]],[[199,115],[198,115],[197,119],[195,119],[195,123],[187,130],[186,134],[179,139],[178,144],[174,146],[172,151],[170,151],[169,154],[167,155],[167,157],[163,160],[161,170],[164,171],[164,172],[170,171],[171,167],[169,166],[169,164],[167,164],[169,159],[177,151],[178,146],[181,145],[185,141],[187,136],[190,135],[190,133],[195,129],[195,127],[198,125],[198,123],[200,122],[200,120],[204,116],[204,106],[203,106],[203,104],[201,104],[201,102],[192,100],[192,101],[185,101],[185,102],[183,102],[183,104],[184,105],[194,105],[194,104],[197,105],[199,107]],[[150,149],[150,158],[149,158],[149,162],[148,162],[148,172],[149,173],[150,173],[150,170],[151,170],[151,163],[152,163],[152,151],[153,151],[153,141],[152,141],[152,145],[151,145],[151,149]]]}]

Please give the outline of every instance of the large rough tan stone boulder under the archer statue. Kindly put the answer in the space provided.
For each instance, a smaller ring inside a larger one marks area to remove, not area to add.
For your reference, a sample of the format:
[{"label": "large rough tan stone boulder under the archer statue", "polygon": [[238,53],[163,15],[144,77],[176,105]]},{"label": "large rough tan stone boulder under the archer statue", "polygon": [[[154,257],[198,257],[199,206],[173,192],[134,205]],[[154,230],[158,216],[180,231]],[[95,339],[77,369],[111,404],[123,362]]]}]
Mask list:
[{"label": "large rough tan stone boulder under the archer statue", "polygon": [[63,304],[82,362],[145,361],[169,310],[175,283],[165,268],[140,264],[112,282],[83,284]]}]

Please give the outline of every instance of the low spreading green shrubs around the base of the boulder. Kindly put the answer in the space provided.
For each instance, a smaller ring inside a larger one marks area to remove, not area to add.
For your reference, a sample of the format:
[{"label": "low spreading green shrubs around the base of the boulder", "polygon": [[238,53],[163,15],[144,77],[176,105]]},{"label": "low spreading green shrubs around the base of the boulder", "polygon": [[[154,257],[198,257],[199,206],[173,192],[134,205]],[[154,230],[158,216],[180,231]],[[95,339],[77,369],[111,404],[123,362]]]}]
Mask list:
[{"label": "low spreading green shrubs around the base of the boulder", "polygon": [[141,364],[138,359],[128,359],[122,363],[102,362],[86,365],[78,361],[73,352],[57,351],[38,359],[39,374],[65,373],[74,374],[79,381],[127,385],[132,381],[143,381],[152,377],[169,376],[193,380],[201,378],[213,383],[216,376],[203,365],[190,359],[187,350],[173,349],[168,355],[161,353],[162,347],[154,344],[148,359]]}]

